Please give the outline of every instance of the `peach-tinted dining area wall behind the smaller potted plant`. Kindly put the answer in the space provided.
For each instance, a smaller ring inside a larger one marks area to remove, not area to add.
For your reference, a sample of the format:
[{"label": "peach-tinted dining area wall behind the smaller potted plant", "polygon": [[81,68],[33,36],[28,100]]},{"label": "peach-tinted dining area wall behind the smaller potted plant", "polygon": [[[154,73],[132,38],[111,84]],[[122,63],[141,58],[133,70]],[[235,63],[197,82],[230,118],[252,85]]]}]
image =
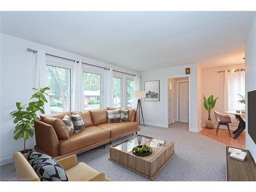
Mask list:
[{"label": "peach-tinted dining area wall behind the smaller potted plant", "polygon": [[[217,99],[214,110],[211,111],[211,119],[215,119],[214,111],[218,111],[220,113],[224,113],[223,105],[224,105],[224,73],[218,73],[218,71],[224,71],[225,69],[241,69],[245,68],[245,65],[236,65],[236,66],[227,66],[221,68],[212,68],[212,69],[202,69],[202,94],[206,97],[210,95],[214,95]],[[201,94],[201,95],[202,95]],[[202,109],[202,121],[203,126],[205,126],[205,120],[208,119],[208,113],[204,109],[203,98],[201,97],[201,109]],[[232,123],[230,126],[236,128],[239,124],[239,121],[235,118],[234,115],[230,115]],[[217,127],[218,122],[215,120],[215,126]],[[221,125],[221,128],[226,129],[225,125]],[[230,127],[231,128],[231,127]]]}]

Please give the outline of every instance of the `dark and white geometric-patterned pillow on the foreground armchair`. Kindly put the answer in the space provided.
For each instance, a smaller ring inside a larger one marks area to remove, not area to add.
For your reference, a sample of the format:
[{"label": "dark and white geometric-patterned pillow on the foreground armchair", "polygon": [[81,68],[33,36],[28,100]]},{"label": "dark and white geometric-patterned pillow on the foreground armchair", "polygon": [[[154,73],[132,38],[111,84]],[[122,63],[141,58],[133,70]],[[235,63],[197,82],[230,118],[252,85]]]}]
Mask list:
[{"label": "dark and white geometric-patterned pillow on the foreground armchair", "polygon": [[61,165],[48,155],[30,151],[28,162],[40,181],[69,181]]}]

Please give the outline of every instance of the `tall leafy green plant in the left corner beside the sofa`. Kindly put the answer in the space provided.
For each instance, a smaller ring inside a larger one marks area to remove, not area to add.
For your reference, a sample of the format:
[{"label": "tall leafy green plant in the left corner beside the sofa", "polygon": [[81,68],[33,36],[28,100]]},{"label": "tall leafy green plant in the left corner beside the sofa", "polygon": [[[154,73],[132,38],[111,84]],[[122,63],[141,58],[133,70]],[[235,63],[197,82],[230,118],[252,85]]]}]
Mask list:
[{"label": "tall leafy green plant in the left corner beside the sofa", "polygon": [[34,99],[34,101],[30,102],[27,108],[25,107],[26,104],[22,105],[22,102],[16,102],[17,110],[10,113],[10,115],[14,118],[13,122],[16,124],[14,130],[14,139],[24,139],[24,150],[20,151],[22,154],[26,154],[28,151],[31,151],[31,149],[26,149],[26,140],[34,135],[34,120],[39,119],[36,112],[40,111],[42,114],[45,113],[44,104],[47,102],[45,95],[48,95],[46,91],[50,90],[50,88],[33,88],[33,90],[37,91],[30,98]]}]

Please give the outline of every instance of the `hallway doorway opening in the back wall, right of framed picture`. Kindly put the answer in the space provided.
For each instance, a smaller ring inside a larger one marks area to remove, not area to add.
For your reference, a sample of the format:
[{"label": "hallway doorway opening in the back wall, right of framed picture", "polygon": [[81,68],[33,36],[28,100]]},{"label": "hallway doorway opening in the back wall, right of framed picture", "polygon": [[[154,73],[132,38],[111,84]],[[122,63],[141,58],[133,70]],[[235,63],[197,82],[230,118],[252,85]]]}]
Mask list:
[{"label": "hallway doorway opening in the back wall, right of framed picture", "polygon": [[[188,77],[168,78],[168,124],[189,122]],[[187,124],[188,125],[188,124]]]}]

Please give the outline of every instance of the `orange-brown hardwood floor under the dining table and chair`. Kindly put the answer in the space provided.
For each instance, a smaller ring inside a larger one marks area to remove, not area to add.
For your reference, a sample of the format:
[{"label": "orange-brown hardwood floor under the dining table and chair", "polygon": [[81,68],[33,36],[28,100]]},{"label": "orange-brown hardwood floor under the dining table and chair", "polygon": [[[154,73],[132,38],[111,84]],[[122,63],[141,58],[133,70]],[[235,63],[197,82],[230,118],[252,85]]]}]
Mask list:
[{"label": "orange-brown hardwood floor under the dining table and chair", "polygon": [[[230,130],[230,132],[231,136],[233,137],[233,130]],[[245,148],[245,132],[241,133],[241,135],[237,139],[233,139],[232,137],[229,137],[228,130],[219,129],[218,135],[216,135],[216,129],[206,129],[204,127],[204,129],[200,131],[199,134],[219,141],[228,146]]]}]

